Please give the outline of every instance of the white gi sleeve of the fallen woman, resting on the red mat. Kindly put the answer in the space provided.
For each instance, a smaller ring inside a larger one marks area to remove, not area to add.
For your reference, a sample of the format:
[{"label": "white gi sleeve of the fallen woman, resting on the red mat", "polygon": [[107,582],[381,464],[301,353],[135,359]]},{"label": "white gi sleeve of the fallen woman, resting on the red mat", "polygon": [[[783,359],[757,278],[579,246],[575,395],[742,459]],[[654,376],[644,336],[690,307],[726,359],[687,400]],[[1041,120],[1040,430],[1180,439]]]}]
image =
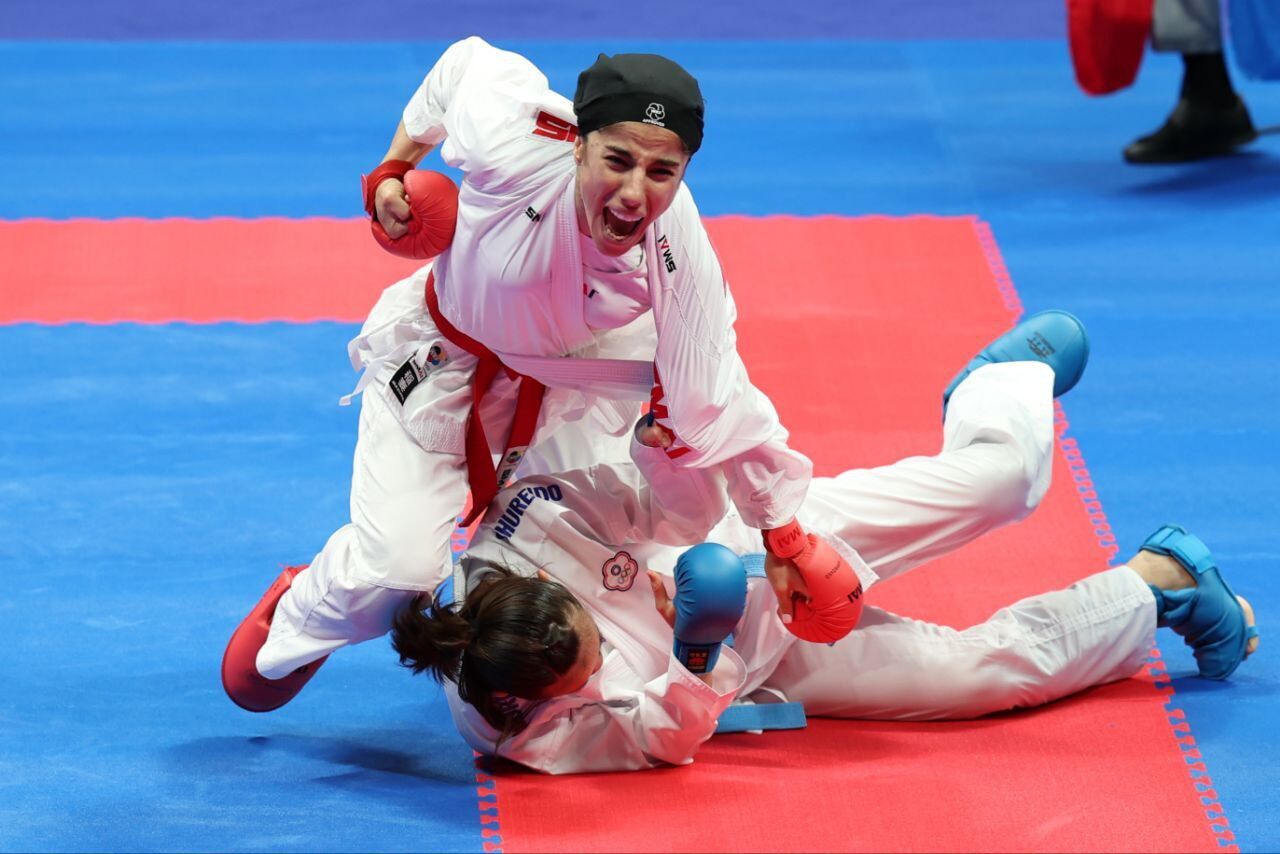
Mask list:
[{"label": "white gi sleeve of the fallen woman, resting on the red mat", "polygon": [[672,656],[667,672],[643,690],[616,690],[600,700],[563,697],[544,703],[524,731],[502,744],[498,755],[545,773],[689,764],[716,732],[717,720],[744,679],[745,666],[731,649],[721,652],[710,685]]}]

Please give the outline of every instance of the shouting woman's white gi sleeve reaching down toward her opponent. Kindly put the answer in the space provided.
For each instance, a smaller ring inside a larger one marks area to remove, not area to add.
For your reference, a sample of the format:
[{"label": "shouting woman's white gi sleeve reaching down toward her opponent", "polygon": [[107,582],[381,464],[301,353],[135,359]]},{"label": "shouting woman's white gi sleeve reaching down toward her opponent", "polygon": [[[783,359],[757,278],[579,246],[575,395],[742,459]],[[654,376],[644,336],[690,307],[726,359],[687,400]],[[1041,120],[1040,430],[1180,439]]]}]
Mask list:
[{"label": "shouting woman's white gi sleeve reaching down toward her opponent", "polygon": [[773,403],[746,374],[733,297],[687,188],[662,224],[654,414],[676,437],[667,456],[687,467],[722,466],[742,520],[777,528],[800,508],[813,463],[787,447]]}]

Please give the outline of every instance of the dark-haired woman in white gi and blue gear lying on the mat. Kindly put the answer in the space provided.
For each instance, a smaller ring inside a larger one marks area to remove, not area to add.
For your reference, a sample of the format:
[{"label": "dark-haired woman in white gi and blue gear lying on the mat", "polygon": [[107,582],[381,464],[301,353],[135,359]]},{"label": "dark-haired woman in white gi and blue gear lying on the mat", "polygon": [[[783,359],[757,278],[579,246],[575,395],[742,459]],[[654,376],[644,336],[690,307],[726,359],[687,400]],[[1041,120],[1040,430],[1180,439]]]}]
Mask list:
[{"label": "dark-haired woman in white gi and blue gear lying on the mat", "polygon": [[[813,481],[800,519],[849,554],[865,586],[1025,516],[1044,494],[1055,369],[1059,391],[1064,366],[1074,383],[1084,339],[1055,342],[1055,367],[998,364],[1042,318],[952,383],[938,456]],[[732,700],[759,691],[810,716],[969,718],[1132,676],[1157,625],[1183,634],[1212,679],[1257,644],[1248,604],[1174,526],[1124,566],[964,631],[868,606],[838,643],[805,643],[783,627],[769,583],[746,581],[737,556],[753,562],[759,534],[732,510],[709,544],[654,542],[724,513],[716,471],[676,470],[655,448],[632,456],[648,479],[630,462],[602,463],[507,489],[460,563],[461,608],[421,597],[397,618],[401,661],[445,681],[476,750],[550,773],[680,764]],[[717,654],[730,631],[732,648]]]}]

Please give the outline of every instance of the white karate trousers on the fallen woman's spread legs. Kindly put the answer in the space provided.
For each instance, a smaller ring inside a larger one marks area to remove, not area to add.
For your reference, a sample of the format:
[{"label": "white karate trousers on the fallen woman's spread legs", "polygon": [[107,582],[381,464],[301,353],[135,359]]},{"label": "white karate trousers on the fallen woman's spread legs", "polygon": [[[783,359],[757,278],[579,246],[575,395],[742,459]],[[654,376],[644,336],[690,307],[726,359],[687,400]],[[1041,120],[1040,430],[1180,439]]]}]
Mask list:
[{"label": "white karate trousers on the fallen woman's spread legs", "polygon": [[[1025,516],[1050,481],[1052,380],[1038,362],[979,369],[951,399],[940,455],[817,479],[801,519],[883,580]],[[1121,566],[965,630],[868,606],[838,643],[791,644],[764,685],[814,716],[972,718],[1126,679],[1155,632],[1155,598]]]}]

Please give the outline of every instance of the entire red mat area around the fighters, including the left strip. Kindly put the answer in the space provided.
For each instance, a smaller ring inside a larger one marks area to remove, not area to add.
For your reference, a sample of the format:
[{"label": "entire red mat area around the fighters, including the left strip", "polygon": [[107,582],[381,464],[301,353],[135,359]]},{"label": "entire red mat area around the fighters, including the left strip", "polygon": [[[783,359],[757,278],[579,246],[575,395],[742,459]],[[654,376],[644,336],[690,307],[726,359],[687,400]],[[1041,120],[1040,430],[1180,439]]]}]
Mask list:
[{"label": "entire red mat area around the fighters, including the left strip", "polygon": [[[0,323],[358,321],[413,268],[376,250],[366,228],[0,223]],[[933,453],[940,389],[1018,307],[975,220],[721,218],[708,228],[753,378],[824,474]],[[1060,452],[1032,520],[876,588],[872,600],[964,625],[1105,566],[1110,534],[1064,444],[1070,465]],[[481,794],[492,805],[497,793],[500,822],[488,818],[485,832],[507,851],[1217,850],[1185,746],[1162,694],[1130,680],[978,722],[813,721],[721,736],[687,768],[506,771],[481,776]]]}]

